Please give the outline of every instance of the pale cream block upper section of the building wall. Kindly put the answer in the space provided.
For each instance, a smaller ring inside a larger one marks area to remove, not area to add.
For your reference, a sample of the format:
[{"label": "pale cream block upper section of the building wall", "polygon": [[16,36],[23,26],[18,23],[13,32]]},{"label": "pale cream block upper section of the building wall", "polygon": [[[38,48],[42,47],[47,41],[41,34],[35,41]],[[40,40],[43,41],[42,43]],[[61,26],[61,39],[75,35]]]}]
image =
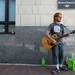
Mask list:
[{"label": "pale cream block upper section of the building wall", "polygon": [[64,14],[66,26],[75,24],[75,10],[57,9],[57,0],[16,0],[16,26],[47,26],[57,11]]}]

